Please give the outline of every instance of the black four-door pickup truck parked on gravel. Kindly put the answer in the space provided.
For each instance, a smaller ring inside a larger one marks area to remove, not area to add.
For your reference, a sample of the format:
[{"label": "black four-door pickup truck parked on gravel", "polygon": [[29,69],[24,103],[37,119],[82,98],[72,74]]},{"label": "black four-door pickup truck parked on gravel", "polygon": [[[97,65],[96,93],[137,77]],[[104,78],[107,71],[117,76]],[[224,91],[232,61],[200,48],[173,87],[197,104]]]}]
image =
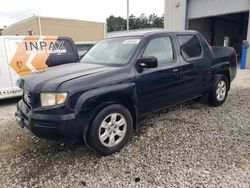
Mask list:
[{"label": "black four-door pickup truck parked on gravel", "polygon": [[108,155],[142,115],[201,96],[223,104],[235,76],[234,49],[210,47],[198,32],[126,34],[98,42],[80,62],[19,79],[16,118],[39,137],[83,138]]}]

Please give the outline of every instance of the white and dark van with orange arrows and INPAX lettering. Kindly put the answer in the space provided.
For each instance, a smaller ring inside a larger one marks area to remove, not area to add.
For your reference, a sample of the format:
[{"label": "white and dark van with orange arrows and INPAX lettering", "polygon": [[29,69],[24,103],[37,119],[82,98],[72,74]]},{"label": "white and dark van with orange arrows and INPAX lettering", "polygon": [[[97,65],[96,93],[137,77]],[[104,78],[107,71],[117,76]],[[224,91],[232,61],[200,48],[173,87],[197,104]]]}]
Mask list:
[{"label": "white and dark van with orange arrows and INPAX lettering", "polygon": [[20,77],[78,60],[68,37],[0,36],[0,99],[22,95],[16,86]]}]

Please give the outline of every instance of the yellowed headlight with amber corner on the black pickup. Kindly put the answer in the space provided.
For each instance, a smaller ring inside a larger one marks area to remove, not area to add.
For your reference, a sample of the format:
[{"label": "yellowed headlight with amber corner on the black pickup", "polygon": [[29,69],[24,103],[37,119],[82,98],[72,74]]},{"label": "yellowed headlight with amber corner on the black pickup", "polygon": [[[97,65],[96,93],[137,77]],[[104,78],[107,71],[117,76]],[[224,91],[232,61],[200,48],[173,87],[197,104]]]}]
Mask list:
[{"label": "yellowed headlight with amber corner on the black pickup", "polygon": [[63,104],[68,96],[68,93],[41,93],[41,106],[53,106]]}]

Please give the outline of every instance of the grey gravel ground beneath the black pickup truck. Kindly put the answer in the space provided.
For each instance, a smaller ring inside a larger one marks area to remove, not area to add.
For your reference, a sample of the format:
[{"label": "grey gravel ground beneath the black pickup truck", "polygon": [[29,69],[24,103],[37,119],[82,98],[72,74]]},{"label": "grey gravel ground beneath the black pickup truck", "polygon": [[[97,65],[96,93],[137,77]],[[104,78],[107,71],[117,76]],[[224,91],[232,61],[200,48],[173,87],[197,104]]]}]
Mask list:
[{"label": "grey gravel ground beneath the black pickup truck", "polygon": [[238,71],[223,106],[196,102],[147,116],[107,157],[19,128],[16,102],[0,103],[0,187],[250,187],[249,70]]}]

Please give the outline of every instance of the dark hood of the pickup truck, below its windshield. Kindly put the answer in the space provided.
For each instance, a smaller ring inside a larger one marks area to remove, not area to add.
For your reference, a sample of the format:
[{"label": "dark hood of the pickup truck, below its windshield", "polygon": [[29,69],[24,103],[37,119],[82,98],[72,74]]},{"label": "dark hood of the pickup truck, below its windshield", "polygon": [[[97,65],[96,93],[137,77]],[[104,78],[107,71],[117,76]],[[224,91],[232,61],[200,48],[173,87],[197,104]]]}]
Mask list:
[{"label": "dark hood of the pickup truck, below its windshield", "polygon": [[105,71],[112,71],[115,67],[108,67],[88,63],[71,63],[50,68],[47,71],[24,76],[17,81],[17,86],[26,91],[55,91],[57,87],[67,81],[80,77],[87,77]]}]

